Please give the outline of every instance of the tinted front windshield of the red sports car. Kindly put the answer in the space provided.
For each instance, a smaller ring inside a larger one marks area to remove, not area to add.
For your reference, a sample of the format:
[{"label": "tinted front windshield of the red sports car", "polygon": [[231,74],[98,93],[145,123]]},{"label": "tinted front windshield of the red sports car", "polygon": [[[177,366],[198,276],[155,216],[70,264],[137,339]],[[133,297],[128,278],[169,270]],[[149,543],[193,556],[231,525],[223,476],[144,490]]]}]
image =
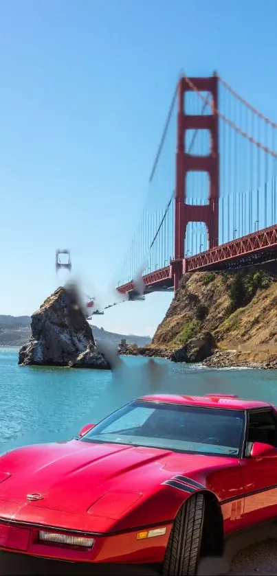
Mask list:
[{"label": "tinted front windshield of the red sports car", "polygon": [[243,411],[135,400],[80,440],[237,457],[244,422]]}]

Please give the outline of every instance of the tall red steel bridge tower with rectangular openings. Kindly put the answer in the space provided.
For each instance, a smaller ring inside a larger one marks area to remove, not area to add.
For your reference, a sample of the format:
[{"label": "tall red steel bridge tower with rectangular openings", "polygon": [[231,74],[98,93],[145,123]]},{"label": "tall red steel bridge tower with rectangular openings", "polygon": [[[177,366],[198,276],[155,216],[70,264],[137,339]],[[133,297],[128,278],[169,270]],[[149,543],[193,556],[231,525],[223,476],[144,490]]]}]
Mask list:
[{"label": "tall red steel bridge tower with rectangular openings", "polygon": [[[190,83],[191,82],[191,83]],[[192,89],[193,84],[193,89]],[[185,109],[186,92],[209,92],[212,96],[210,115],[188,115]],[[186,272],[185,237],[188,222],[204,222],[208,230],[208,247],[219,245],[219,118],[218,78],[181,78],[178,84],[176,187],[175,187],[175,257],[173,266],[174,289]],[[210,153],[207,156],[189,154],[186,150],[186,130],[210,130]],[[209,195],[207,205],[186,204],[186,177],[188,172],[207,172]]]}]

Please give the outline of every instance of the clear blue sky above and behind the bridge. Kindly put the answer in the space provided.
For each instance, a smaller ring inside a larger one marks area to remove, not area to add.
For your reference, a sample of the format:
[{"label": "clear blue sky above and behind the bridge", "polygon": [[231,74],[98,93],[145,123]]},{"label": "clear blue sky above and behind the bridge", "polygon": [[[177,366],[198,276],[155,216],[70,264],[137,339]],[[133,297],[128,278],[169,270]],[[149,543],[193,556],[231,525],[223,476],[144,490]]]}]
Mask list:
[{"label": "clear blue sky above and behind the bridge", "polygon": [[[31,314],[56,288],[58,247],[109,299],[181,69],[219,71],[277,120],[276,16],[276,0],[1,1],[0,313]],[[153,334],[170,299],[93,323]]]}]

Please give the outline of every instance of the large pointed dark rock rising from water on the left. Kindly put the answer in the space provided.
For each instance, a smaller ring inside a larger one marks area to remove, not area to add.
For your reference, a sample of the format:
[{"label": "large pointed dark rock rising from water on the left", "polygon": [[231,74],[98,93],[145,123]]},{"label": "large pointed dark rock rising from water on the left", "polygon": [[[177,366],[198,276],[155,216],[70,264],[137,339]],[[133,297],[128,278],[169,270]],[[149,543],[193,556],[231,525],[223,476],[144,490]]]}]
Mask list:
[{"label": "large pointed dark rock rising from water on the left", "polygon": [[[32,314],[32,336],[19,350],[19,364],[109,369],[97,352],[91,326],[73,288],[60,287]],[[87,362],[87,363],[86,363]]]}]

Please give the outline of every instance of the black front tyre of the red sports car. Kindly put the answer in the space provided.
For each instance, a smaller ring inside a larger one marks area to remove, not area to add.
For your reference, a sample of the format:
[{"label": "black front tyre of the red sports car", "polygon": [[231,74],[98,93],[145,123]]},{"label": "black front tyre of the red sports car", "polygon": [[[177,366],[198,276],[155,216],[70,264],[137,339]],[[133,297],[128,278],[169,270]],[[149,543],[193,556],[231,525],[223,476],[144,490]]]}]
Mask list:
[{"label": "black front tyre of the red sports car", "polygon": [[164,556],[163,576],[192,576],[197,573],[204,511],[203,494],[194,494],[179,509]]}]

